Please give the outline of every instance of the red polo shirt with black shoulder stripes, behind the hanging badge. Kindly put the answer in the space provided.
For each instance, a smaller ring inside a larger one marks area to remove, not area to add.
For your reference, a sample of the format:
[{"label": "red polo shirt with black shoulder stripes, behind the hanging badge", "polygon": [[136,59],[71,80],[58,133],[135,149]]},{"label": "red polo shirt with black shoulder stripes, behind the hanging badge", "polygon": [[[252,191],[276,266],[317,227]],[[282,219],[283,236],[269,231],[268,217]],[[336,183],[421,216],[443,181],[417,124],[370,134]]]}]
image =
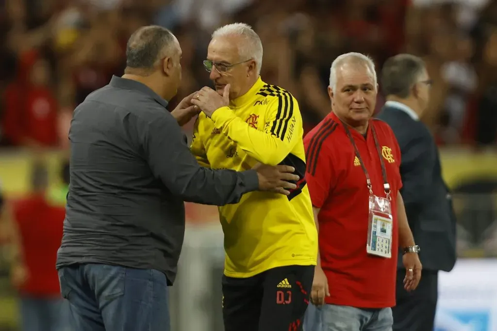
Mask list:
[{"label": "red polo shirt with black shoulder stripes, behind the hanging badge", "polygon": [[[374,126],[380,148],[391,149],[385,159],[391,188],[394,219],[393,247],[398,246],[397,193],[402,187],[399,173],[400,148],[392,129],[377,119],[369,121],[366,138],[350,129],[371,178],[373,193],[385,197],[381,163],[371,133]],[[366,253],[369,190],[354,147],[336,115],[331,112],[304,138],[306,180],[319,213],[321,265],[328,278],[326,303],[358,308],[395,306],[397,249],[385,259]],[[390,160],[390,162],[389,162]]]}]

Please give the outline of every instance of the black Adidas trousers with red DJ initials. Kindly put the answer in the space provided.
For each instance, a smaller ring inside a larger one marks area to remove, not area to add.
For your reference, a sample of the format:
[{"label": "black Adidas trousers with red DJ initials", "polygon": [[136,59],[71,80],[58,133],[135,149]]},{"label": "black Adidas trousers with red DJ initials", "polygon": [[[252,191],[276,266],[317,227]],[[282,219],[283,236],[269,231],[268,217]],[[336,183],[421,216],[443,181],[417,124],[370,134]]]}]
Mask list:
[{"label": "black Adidas trousers with red DJ initials", "polygon": [[280,266],[248,278],[223,276],[225,331],[302,331],[314,265]]}]

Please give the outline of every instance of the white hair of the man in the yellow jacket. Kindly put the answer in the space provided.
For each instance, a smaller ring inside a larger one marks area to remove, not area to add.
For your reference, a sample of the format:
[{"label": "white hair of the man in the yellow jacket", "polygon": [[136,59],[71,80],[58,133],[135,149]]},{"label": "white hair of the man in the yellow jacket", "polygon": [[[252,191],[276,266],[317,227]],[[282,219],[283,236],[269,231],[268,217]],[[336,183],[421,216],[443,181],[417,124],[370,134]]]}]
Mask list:
[{"label": "white hair of the man in the yellow jacket", "polygon": [[245,23],[224,25],[214,31],[212,39],[226,36],[241,36],[244,38],[244,42],[238,49],[241,61],[253,59],[256,64],[257,74],[259,74],[262,66],[262,43],[250,25]]}]

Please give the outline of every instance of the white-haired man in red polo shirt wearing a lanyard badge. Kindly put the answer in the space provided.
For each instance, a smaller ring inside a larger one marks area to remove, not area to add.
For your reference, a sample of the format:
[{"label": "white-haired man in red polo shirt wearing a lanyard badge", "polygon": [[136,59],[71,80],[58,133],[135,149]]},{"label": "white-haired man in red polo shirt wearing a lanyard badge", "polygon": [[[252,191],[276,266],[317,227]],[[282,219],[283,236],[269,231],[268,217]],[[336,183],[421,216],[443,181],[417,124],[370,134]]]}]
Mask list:
[{"label": "white-haired man in red polo shirt wearing a lanyard badge", "polygon": [[332,112],[304,139],[319,231],[311,302],[320,307],[309,307],[307,331],[319,330],[316,321],[327,331],[391,331],[398,245],[406,289],[419,282],[419,247],[399,194],[400,149],[390,127],[371,118],[377,90],[371,59],[336,58],[328,87]]}]

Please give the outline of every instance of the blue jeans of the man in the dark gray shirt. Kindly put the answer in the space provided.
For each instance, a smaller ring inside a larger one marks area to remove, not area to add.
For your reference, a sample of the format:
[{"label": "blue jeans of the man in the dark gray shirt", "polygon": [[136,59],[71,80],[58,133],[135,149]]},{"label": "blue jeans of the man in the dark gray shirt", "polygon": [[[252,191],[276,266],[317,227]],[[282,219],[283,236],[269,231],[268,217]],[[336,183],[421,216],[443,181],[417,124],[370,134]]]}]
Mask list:
[{"label": "blue jeans of the man in the dark gray shirt", "polygon": [[170,331],[166,275],[82,264],[59,270],[73,331]]}]

